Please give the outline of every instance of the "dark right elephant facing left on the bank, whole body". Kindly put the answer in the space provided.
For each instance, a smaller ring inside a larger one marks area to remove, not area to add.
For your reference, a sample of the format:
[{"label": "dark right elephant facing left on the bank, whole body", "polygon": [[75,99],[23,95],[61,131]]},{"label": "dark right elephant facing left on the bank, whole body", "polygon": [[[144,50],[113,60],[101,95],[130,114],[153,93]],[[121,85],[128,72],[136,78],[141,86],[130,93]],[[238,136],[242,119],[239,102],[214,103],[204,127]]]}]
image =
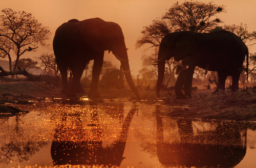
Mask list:
[{"label": "dark right elephant facing left on the bank, whole body", "polygon": [[[239,77],[243,70],[243,62],[247,57],[248,48],[244,42],[233,33],[219,31],[215,33],[195,33],[181,31],[169,33],[160,43],[158,53],[158,79],[156,85],[157,97],[160,97],[160,88],[164,77],[165,60],[174,58],[183,61],[188,69],[181,71],[175,84],[177,99],[191,96],[192,79],[196,66],[206,71],[218,72],[218,86],[215,92],[225,90],[227,76],[232,76],[232,91],[239,89]],[[248,71],[247,71],[248,76]],[[182,93],[184,85],[185,95]]]}]

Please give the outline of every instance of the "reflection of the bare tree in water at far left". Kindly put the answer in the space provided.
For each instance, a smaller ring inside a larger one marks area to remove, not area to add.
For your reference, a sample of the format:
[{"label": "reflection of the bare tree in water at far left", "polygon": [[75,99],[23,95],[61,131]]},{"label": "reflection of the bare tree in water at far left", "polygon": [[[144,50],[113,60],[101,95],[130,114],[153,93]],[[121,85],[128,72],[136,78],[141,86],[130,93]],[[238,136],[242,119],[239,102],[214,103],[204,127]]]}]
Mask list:
[{"label": "reflection of the bare tree in water at far left", "polygon": [[[35,152],[47,145],[45,139],[39,137],[33,127],[24,127],[22,118],[27,114],[0,114],[0,163],[27,161]],[[36,138],[39,141],[34,141]]]}]

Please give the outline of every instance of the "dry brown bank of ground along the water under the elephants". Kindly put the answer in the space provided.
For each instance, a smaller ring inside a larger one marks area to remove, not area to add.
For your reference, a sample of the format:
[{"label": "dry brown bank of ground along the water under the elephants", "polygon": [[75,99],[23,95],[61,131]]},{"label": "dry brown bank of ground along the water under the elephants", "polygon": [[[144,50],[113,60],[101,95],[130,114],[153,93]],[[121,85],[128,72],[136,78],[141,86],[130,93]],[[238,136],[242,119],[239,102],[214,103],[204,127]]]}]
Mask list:
[{"label": "dry brown bank of ground along the water under the elephants", "polygon": [[[48,85],[45,82],[0,82],[0,103],[28,103],[28,100],[44,98],[66,99],[60,91],[61,86]],[[139,91],[141,103],[171,107],[172,112],[168,113],[171,117],[256,121],[256,89],[241,89],[236,93],[226,91],[215,95],[211,92],[212,90],[193,91],[193,98],[176,100],[174,91],[161,91],[161,99],[156,98],[155,91]],[[102,98],[112,101],[117,101],[116,98],[135,101],[134,94],[129,89],[99,89],[99,93]]]}]

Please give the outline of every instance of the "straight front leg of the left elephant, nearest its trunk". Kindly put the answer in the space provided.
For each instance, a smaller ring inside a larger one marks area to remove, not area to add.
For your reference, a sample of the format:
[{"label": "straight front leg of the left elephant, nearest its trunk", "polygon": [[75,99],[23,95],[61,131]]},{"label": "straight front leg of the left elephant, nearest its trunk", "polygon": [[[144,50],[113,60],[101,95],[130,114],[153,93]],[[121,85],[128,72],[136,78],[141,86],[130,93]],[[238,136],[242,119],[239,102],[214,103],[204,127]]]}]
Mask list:
[{"label": "straight front leg of the left elephant, nearest its trunk", "polygon": [[104,51],[94,59],[93,72],[92,72],[92,82],[90,87],[89,97],[99,97],[98,85],[99,85],[99,75],[101,73],[101,68],[103,65]]}]

